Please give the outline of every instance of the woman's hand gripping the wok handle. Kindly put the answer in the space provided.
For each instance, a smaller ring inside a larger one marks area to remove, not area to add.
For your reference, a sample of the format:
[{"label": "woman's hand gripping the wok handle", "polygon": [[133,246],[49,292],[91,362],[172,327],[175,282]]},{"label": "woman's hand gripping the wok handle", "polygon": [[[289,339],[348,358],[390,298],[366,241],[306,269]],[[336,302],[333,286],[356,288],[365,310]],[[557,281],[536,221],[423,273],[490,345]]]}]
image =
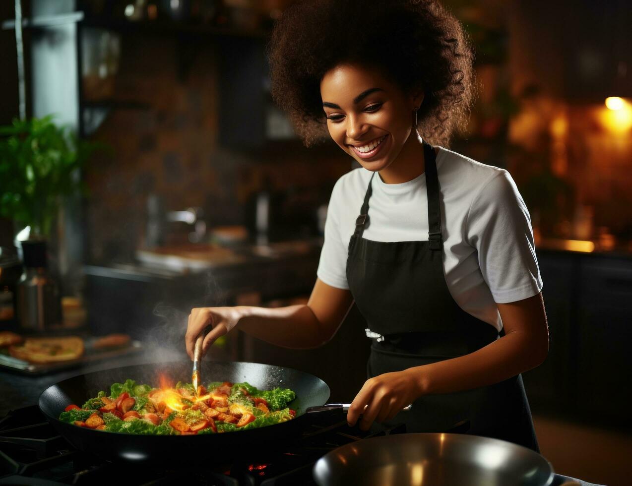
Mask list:
[{"label": "woman's hand gripping the wok handle", "polygon": [[347,413],[347,422],[353,427],[362,415],[360,428],[368,430],[375,420],[391,420],[422,393],[419,368],[377,375],[368,379],[353,399]]}]

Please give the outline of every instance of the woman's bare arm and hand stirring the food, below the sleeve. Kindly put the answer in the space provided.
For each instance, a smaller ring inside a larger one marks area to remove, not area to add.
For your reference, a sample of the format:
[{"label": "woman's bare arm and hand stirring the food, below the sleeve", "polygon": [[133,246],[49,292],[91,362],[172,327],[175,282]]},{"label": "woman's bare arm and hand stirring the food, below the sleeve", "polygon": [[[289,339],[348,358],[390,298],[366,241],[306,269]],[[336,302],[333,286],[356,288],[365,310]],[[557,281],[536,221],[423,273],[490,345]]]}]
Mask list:
[{"label": "woman's bare arm and hand stirring the food, below the sleeve", "polygon": [[212,330],[204,339],[206,353],[217,337],[234,327],[268,343],[285,348],[317,348],[331,339],[349,312],[351,292],[316,279],[307,305],[288,307],[203,307],[191,310],[186,331],[186,351],[193,356],[196,337],[205,327]]}]

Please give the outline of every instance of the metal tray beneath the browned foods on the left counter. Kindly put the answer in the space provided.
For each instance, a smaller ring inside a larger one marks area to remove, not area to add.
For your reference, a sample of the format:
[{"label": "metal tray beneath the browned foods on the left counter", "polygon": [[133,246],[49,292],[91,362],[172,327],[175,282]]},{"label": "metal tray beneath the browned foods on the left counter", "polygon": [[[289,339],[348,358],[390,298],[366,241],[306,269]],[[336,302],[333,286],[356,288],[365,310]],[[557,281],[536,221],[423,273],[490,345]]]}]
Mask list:
[{"label": "metal tray beneath the browned foods on the left counter", "polygon": [[131,355],[142,351],[143,345],[140,341],[130,341],[127,346],[111,349],[94,349],[91,346],[91,339],[85,339],[85,354],[76,360],[63,361],[62,363],[29,363],[28,361],[18,360],[13,356],[7,356],[0,353],[0,369],[13,370],[25,375],[44,375],[47,373],[65,370],[68,368],[76,368],[96,361],[107,360],[110,358],[118,358],[119,356]]}]

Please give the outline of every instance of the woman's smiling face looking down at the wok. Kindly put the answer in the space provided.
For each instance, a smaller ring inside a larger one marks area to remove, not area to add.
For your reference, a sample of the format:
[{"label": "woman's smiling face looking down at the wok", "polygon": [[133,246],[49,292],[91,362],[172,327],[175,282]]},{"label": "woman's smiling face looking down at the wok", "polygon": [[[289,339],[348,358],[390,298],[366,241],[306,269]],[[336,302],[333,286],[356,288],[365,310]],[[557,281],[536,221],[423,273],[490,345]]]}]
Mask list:
[{"label": "woman's smiling face looking down at the wok", "polygon": [[423,94],[407,96],[375,70],[341,64],[320,82],[329,135],[369,171],[382,171],[418,147],[413,110]]}]

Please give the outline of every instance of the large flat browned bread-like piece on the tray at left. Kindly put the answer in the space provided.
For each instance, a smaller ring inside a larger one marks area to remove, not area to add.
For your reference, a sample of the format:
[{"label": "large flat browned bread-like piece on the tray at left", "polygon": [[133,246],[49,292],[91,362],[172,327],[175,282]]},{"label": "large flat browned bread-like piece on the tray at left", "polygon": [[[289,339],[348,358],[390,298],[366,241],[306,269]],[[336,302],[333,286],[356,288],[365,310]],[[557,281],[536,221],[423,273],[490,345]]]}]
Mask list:
[{"label": "large flat browned bread-like piece on the tray at left", "polygon": [[9,354],[30,363],[57,363],[80,358],[83,349],[83,339],[77,336],[27,337],[23,344],[10,346]]}]

